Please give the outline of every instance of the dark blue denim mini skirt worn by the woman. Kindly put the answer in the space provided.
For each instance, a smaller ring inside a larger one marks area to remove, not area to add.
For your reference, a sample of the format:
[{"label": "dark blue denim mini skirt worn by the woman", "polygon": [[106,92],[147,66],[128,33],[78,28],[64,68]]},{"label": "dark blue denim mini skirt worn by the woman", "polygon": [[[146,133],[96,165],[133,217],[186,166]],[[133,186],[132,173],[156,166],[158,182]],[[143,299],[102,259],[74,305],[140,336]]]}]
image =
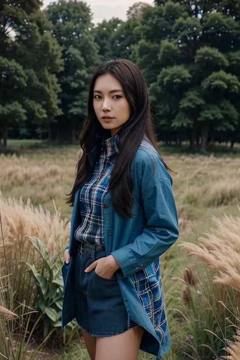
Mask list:
[{"label": "dark blue denim mini skirt worn by the woman", "polygon": [[121,334],[137,325],[128,316],[116,275],[108,279],[95,269],[85,272],[105,256],[104,246],[81,242],[74,271],[76,321],[80,329],[95,337]]}]

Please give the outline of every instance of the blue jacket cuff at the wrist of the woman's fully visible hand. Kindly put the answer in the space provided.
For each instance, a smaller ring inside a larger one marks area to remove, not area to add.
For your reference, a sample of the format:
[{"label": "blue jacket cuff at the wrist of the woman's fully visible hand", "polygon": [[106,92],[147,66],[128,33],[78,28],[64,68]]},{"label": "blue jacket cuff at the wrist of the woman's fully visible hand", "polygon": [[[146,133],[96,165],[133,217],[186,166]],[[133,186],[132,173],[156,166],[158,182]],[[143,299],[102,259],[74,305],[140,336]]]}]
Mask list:
[{"label": "blue jacket cuff at the wrist of the woman's fully visible hand", "polygon": [[121,267],[123,272],[123,277],[128,277],[135,272],[144,269],[144,264],[138,264],[136,258],[133,256],[132,252],[127,249],[118,249],[113,251],[111,255],[115,258],[118,265]]}]

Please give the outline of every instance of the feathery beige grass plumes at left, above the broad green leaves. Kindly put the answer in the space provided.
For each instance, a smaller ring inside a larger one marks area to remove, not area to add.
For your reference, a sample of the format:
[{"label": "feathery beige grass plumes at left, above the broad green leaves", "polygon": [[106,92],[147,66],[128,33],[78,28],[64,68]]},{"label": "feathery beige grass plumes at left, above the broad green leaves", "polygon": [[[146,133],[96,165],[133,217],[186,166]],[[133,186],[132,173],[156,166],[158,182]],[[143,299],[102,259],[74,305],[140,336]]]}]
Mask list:
[{"label": "feathery beige grass plumes at left, above the broad green leaves", "polygon": [[[7,252],[14,248],[20,251],[27,242],[26,235],[36,236],[53,254],[62,249],[68,241],[70,224],[61,218],[58,210],[51,214],[44,207],[34,207],[30,199],[26,203],[20,198],[4,198],[0,192],[0,209]],[[3,259],[3,243],[0,244],[0,258]]]}]

